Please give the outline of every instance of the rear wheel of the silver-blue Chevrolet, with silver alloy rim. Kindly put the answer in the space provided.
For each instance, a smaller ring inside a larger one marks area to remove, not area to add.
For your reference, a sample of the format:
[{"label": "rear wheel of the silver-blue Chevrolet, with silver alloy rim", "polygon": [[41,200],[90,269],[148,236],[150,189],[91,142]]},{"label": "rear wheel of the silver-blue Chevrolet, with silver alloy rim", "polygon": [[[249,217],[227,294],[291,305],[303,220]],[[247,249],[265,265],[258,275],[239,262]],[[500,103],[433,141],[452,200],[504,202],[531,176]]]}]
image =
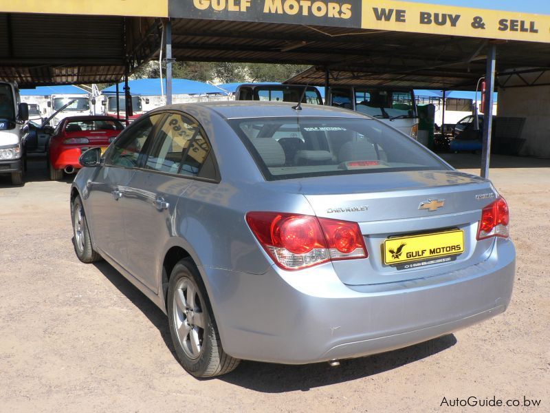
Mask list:
[{"label": "rear wheel of the silver-blue Chevrolet, with silver alloy rim", "polygon": [[241,360],[221,347],[216,321],[197,266],[179,261],[168,282],[168,324],[181,366],[195,377],[226,374]]}]

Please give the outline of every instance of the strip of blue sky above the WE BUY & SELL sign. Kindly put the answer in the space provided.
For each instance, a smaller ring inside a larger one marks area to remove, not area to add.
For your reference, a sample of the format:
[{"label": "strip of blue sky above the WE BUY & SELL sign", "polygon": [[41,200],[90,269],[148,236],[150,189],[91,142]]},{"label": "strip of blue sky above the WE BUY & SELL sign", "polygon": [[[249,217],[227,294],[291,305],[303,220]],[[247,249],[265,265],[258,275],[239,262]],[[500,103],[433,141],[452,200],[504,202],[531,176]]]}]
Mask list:
[{"label": "strip of blue sky above the WE BUY & SELL sign", "polygon": [[550,14],[550,0],[406,0],[415,3],[445,4],[485,8],[489,10],[509,10],[511,12]]}]

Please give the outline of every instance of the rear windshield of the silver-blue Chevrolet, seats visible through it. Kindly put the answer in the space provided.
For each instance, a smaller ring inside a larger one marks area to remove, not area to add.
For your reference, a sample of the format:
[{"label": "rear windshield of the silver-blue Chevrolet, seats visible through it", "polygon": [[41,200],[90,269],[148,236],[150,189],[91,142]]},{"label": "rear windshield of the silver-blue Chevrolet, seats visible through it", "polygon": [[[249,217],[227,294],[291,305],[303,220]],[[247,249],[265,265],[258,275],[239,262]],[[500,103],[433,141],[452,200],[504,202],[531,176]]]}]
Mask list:
[{"label": "rear windshield of the silver-blue Chevrolet, seats visible through it", "polygon": [[229,120],[267,180],[449,169],[392,127],[358,118]]}]

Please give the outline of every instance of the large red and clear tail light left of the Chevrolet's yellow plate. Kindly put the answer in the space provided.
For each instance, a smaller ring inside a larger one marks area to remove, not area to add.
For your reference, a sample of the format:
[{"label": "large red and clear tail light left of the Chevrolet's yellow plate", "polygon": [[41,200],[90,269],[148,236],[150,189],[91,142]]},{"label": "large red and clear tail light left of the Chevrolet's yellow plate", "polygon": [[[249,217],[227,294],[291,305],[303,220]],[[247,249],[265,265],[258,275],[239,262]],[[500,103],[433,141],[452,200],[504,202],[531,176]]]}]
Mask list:
[{"label": "large red and clear tail light left of the Chevrolet's yellow plate", "polygon": [[249,212],[246,222],[274,262],[287,270],[368,256],[356,222],[278,212]]}]

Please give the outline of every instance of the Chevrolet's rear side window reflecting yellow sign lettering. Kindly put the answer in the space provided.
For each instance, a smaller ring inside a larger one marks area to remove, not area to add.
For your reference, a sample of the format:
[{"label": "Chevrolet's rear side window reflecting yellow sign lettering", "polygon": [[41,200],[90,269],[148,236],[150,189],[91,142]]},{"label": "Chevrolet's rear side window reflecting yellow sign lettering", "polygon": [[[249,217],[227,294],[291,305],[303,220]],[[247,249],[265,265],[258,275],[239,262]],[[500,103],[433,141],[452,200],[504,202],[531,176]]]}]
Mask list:
[{"label": "Chevrolet's rear side window reflecting yellow sign lettering", "polygon": [[149,150],[146,169],[199,176],[210,152],[199,124],[181,114],[170,114]]}]

